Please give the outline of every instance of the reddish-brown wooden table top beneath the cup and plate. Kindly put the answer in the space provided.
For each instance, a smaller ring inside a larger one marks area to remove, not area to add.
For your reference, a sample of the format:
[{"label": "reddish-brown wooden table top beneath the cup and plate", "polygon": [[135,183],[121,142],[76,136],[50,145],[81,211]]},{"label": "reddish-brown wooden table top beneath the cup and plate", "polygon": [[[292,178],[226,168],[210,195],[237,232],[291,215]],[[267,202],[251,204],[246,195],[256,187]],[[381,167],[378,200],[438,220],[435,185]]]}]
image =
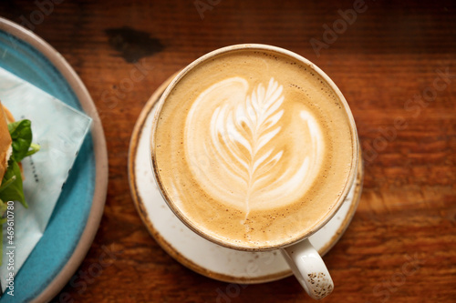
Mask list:
[{"label": "reddish-brown wooden table top beneath the cup and plate", "polygon": [[[78,286],[68,284],[53,301],[310,301],[295,278],[222,298],[229,285],[168,256],[130,197],[130,135],[153,91],[215,48],[263,43],[306,56],[332,77],[351,106],[365,152],[358,211],[325,257],[336,285],[325,301],[455,302],[456,4],[197,4],[0,3],[1,15],[33,29],[75,68],[108,140],[109,191],[97,237],[76,273]],[[133,78],[139,68],[144,76]],[[112,262],[98,277],[89,276],[105,249],[114,251]]]}]

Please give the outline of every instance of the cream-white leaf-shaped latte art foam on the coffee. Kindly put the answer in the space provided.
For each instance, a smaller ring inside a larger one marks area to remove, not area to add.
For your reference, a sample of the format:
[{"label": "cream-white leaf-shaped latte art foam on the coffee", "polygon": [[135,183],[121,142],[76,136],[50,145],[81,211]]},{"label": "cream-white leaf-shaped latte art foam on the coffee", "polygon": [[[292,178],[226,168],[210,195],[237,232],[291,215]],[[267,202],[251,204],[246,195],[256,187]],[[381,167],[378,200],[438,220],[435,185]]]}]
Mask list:
[{"label": "cream-white leaf-shaped latte art foam on the coffee", "polygon": [[285,118],[284,87],[271,78],[253,88],[242,77],[213,84],[193,103],[185,125],[185,157],[214,199],[248,216],[303,197],[324,157],[320,126],[299,107]]}]

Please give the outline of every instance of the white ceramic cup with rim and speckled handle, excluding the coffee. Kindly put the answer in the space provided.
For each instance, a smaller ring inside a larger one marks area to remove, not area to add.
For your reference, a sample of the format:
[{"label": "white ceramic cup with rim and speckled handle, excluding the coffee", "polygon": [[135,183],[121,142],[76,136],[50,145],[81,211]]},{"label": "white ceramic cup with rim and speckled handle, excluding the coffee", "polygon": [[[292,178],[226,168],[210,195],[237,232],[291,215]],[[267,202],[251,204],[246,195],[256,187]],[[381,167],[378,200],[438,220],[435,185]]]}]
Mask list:
[{"label": "white ceramic cup with rim and speckled handle, excluding the coffee", "polygon": [[342,93],[340,90],[337,88],[337,86],[334,84],[334,82],[326,76],[326,74],[317,66],[315,66],[313,63],[308,61],[306,58],[296,55],[293,52],[290,52],[288,50],[285,50],[283,48],[279,48],[276,46],[271,46],[271,45],[232,45],[232,46],[227,46],[223,47],[221,49],[217,49],[215,51],[212,51],[211,53],[200,57],[199,59],[195,60],[190,64],[189,66],[186,66],[183,70],[181,70],[181,73],[179,73],[172,81],[171,84],[166,88],[165,92],[161,96],[161,99],[158,103],[158,108],[157,112],[154,118],[154,122],[152,125],[152,130],[151,130],[151,141],[150,141],[150,155],[151,155],[151,164],[152,164],[152,170],[154,173],[155,180],[157,182],[158,187],[160,188],[161,195],[168,204],[168,206],[171,208],[171,210],[176,214],[177,217],[181,219],[181,221],[190,227],[194,232],[196,232],[198,235],[205,237],[206,239],[218,244],[222,245],[224,247],[230,247],[230,248],[236,248],[233,247],[227,243],[223,243],[220,240],[214,239],[213,237],[205,234],[202,232],[202,230],[199,230],[196,225],[191,225],[189,222],[187,222],[187,218],[182,217],[181,212],[179,209],[175,206],[173,203],[171,197],[168,197],[166,194],[166,191],[163,189],[163,186],[161,184],[160,177],[158,177],[158,171],[159,167],[157,166],[157,162],[155,159],[155,132],[157,129],[157,117],[160,115],[161,108],[163,104],[166,102],[167,97],[170,95],[171,90],[175,86],[179,86],[180,80],[182,76],[185,76],[187,73],[189,73],[193,68],[200,66],[202,62],[214,57],[218,56],[223,53],[239,50],[239,49],[255,49],[255,50],[266,50],[266,51],[273,51],[277,52],[279,54],[285,55],[285,56],[292,56],[298,61],[302,62],[306,66],[309,66],[312,68],[316,74],[324,78],[329,86],[334,90],[334,92],[337,94],[338,98],[341,101],[341,105],[344,106],[347,112],[347,116],[349,119],[349,124],[350,124],[350,131],[352,135],[352,141],[353,141],[353,155],[352,155],[352,167],[350,167],[350,173],[347,177],[346,180],[346,186],[344,187],[344,191],[342,192],[342,195],[338,197],[337,200],[334,201],[334,204],[332,207],[332,211],[327,214],[324,219],[320,220],[317,224],[316,227],[313,228],[311,231],[309,231],[304,237],[300,237],[297,239],[294,239],[292,242],[285,242],[280,245],[276,246],[271,246],[267,248],[252,248],[252,249],[246,249],[244,248],[243,250],[252,250],[252,251],[258,251],[258,250],[272,250],[272,249],[280,249],[282,251],[282,254],[284,255],[288,265],[290,268],[293,270],[293,273],[295,274],[295,277],[299,281],[299,283],[302,285],[302,287],[306,290],[307,294],[311,298],[315,299],[320,299],[320,298],[325,298],[328,294],[332,292],[334,289],[334,284],[333,280],[331,279],[331,276],[329,275],[329,272],[326,268],[326,265],[323,261],[323,259],[320,257],[318,252],[316,251],[316,248],[312,246],[310,241],[308,240],[308,237],[316,233],[320,228],[324,227],[326,223],[337,213],[337,210],[339,207],[342,205],[344,200],[347,197],[349,189],[352,187],[353,183],[355,182],[356,176],[357,176],[357,170],[358,170],[358,133],[357,129],[355,126],[355,121],[354,118],[351,114],[351,111],[347,105],[347,101],[342,96]]}]

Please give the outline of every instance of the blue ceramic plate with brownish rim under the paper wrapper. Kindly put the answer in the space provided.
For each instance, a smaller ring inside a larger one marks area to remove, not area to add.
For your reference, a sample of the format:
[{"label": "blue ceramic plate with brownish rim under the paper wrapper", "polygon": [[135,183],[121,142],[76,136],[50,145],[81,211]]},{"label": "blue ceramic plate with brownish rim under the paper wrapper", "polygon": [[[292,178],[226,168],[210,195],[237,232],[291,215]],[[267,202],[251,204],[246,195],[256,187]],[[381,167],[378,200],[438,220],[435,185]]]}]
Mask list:
[{"label": "blue ceramic plate with brownish rim under the paper wrapper", "polygon": [[16,276],[15,296],[4,294],[0,299],[48,301],[76,271],[98,228],[108,183],[106,143],[87,89],[65,59],[33,33],[3,18],[0,66],[94,119],[46,232]]}]

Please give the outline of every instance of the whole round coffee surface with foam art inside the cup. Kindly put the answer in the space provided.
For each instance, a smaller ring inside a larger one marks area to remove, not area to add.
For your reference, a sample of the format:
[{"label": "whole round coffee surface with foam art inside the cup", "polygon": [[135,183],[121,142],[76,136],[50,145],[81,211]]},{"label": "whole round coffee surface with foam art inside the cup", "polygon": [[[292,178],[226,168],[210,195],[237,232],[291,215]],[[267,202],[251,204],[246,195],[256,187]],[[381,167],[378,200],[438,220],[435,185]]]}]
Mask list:
[{"label": "whole round coffee surface with foam art inside the cup", "polygon": [[190,227],[232,247],[274,247],[312,232],[354,165],[356,134],[337,94],[312,66],[270,50],[193,67],[156,118],[165,196]]}]

